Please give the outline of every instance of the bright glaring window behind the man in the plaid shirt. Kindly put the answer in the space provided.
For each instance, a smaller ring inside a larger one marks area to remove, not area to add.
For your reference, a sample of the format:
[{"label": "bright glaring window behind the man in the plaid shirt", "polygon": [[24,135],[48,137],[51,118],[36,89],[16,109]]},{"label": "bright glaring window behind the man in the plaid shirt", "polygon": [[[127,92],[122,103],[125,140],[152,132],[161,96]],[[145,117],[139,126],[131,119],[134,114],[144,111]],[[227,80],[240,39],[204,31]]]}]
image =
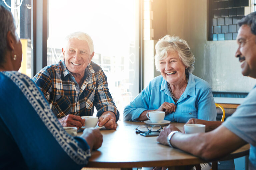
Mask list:
[{"label": "bright glaring window behind the man in the plaid shirt", "polygon": [[92,61],[107,76],[121,120],[124,107],[139,93],[138,2],[49,0],[48,64],[62,59],[62,42],[68,34],[89,34],[94,42]]}]

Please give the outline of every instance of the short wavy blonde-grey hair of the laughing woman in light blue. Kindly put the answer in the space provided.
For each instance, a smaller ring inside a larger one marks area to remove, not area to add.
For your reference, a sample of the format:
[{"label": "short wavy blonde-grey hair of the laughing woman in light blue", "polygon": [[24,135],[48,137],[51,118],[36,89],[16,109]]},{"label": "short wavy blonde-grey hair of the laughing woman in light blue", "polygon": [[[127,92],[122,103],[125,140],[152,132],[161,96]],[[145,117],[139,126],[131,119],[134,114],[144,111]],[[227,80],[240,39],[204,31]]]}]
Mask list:
[{"label": "short wavy blonde-grey hair of the laughing woman in light blue", "polygon": [[162,39],[160,39],[155,46],[156,55],[155,55],[155,66],[156,70],[159,70],[159,61],[165,59],[168,55],[168,52],[177,51],[179,54],[179,58],[183,62],[183,64],[187,67],[186,74],[192,73],[194,70],[194,62],[195,57],[191,52],[188,43],[177,37],[166,35]]}]

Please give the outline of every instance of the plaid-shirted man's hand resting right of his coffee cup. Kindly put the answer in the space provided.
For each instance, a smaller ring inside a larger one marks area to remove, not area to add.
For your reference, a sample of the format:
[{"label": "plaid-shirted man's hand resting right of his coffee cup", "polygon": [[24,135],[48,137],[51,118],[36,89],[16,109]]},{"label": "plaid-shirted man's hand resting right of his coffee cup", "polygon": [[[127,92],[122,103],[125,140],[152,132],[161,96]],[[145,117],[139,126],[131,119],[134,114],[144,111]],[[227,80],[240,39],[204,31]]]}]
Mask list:
[{"label": "plaid-shirted man's hand resting right of his coffee cup", "polygon": [[113,112],[104,112],[98,121],[98,126],[105,126],[106,129],[116,129],[116,116]]}]

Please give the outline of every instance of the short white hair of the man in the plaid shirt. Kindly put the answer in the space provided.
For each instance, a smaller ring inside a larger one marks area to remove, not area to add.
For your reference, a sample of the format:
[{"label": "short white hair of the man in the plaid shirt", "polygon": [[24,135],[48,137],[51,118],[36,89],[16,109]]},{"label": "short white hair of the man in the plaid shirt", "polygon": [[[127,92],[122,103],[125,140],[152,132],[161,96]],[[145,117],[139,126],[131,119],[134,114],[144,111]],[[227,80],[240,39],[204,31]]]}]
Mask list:
[{"label": "short white hair of the man in the plaid shirt", "polygon": [[86,41],[89,46],[90,54],[92,54],[92,52],[94,51],[92,38],[88,34],[83,33],[83,32],[71,33],[65,38],[65,43],[67,44],[67,42],[69,42],[69,40],[71,40],[71,39],[78,39],[78,40]]}]

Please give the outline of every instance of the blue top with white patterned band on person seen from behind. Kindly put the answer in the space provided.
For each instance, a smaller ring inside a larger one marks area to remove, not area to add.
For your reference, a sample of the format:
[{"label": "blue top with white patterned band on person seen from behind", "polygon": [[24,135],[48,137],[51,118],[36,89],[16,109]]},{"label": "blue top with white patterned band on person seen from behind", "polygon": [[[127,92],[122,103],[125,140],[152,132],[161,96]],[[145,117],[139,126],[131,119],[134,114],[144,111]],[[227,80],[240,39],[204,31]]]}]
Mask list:
[{"label": "blue top with white patterned band on person seen from behind", "polygon": [[0,169],[81,169],[91,156],[81,137],[62,128],[35,83],[0,72]]}]

